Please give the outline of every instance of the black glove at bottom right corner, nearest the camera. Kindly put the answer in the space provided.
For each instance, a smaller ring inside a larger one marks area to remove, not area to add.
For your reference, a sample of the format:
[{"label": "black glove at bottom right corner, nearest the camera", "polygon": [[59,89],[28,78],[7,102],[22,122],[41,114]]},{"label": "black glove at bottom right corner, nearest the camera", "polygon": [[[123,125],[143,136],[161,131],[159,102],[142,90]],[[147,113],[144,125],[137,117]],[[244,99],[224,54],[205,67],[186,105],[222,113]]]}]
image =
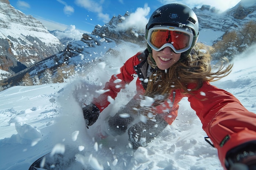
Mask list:
[{"label": "black glove at bottom right corner, nearest the camera", "polygon": [[247,142],[227,152],[228,170],[256,170],[256,141]]}]

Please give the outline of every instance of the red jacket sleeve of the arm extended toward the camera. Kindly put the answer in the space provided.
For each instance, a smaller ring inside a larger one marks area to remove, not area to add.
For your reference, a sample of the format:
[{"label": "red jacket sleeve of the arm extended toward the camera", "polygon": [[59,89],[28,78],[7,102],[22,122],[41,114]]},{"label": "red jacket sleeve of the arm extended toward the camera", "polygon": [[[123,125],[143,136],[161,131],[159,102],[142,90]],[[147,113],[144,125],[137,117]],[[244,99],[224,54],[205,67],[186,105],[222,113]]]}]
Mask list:
[{"label": "red jacket sleeve of the arm extended toward the camera", "polygon": [[231,148],[256,140],[256,114],[249,112],[231,93],[204,82],[188,100],[218,149],[223,167]]}]

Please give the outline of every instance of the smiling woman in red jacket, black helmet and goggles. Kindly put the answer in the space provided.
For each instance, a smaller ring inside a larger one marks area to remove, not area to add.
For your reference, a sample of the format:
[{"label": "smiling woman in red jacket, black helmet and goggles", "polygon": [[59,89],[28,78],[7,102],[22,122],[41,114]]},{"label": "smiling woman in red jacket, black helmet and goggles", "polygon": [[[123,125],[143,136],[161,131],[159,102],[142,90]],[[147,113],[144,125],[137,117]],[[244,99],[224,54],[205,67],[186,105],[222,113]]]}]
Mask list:
[{"label": "smiling woman in red jacket, black helmet and goggles", "polygon": [[[147,49],[137,53],[112,75],[106,93],[83,108],[88,126],[99,113],[137,76],[137,94],[125,108],[108,120],[112,135],[128,132],[134,149],[146,146],[177,117],[178,102],[188,97],[202,122],[222,166],[256,169],[256,114],[249,112],[232,94],[209,84],[225,77],[232,65],[212,72],[211,48],[197,43],[198,19],[182,4],[166,4],[151,15],[146,25]],[[196,45],[195,45],[196,44]],[[205,47],[204,47],[205,48]],[[151,100],[150,100],[151,99]],[[152,101],[150,104],[142,101]],[[128,117],[120,114],[128,113]],[[147,119],[140,119],[141,115]]]}]

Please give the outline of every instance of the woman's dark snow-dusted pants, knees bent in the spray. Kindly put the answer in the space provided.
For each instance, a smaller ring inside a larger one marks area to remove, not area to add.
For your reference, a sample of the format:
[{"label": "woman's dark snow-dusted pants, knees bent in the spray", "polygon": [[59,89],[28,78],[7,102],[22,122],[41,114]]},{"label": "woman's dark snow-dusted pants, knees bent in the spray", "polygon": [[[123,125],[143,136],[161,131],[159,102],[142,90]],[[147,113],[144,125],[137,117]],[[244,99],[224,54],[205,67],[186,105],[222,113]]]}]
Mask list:
[{"label": "woman's dark snow-dusted pants, knees bent in the spray", "polygon": [[[155,114],[154,120],[147,119],[146,122],[142,122],[140,116],[143,115],[143,109],[134,110],[132,106],[132,102],[129,102],[125,108],[108,119],[108,124],[112,135],[121,135],[128,130],[129,141],[133,149],[137,149],[151,142],[168,123],[159,114]],[[128,113],[129,117],[123,117],[124,113]]]}]

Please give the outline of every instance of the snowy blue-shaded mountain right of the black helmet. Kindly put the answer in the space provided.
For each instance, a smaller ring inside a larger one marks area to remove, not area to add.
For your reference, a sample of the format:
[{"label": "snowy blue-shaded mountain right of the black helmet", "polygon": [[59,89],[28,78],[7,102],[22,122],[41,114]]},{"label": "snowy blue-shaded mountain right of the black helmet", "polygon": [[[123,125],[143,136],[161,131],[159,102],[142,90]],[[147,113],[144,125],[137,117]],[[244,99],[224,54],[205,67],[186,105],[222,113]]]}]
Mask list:
[{"label": "snowy blue-shaded mountain right of the black helmet", "polygon": [[199,22],[199,41],[213,45],[222,35],[239,30],[249,21],[256,22],[256,1],[241,0],[235,7],[219,13],[214,7],[203,5],[193,8]]}]

